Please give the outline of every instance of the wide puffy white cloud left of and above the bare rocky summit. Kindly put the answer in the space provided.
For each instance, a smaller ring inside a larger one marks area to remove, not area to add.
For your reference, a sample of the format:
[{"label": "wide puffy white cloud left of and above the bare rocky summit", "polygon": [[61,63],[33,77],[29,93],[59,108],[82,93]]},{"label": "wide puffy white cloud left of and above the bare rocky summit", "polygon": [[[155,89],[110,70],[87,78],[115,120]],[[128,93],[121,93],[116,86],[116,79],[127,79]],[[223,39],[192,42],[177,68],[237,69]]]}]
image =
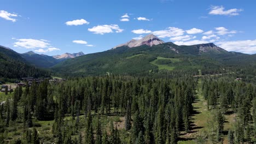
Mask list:
[{"label": "wide puffy white cloud left of and above the bare rocky summit", "polygon": [[118,25],[99,25],[92,28],[88,28],[88,31],[95,34],[104,34],[104,33],[113,33],[113,30],[116,33],[121,33],[124,29],[120,29]]}]

